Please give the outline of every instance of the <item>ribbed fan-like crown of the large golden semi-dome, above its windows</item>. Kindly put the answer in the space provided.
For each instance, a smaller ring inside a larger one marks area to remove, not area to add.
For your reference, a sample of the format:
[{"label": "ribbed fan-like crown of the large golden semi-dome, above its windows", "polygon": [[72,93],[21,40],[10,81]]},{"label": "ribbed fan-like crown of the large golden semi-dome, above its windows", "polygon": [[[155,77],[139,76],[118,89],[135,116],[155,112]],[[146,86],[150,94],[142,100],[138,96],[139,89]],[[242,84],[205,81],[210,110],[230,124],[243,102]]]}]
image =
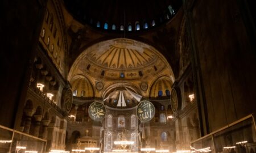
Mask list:
[{"label": "ribbed fan-like crown of the large golden semi-dome, above its windows", "polygon": [[139,69],[146,65],[154,63],[158,56],[148,49],[146,46],[141,46],[138,42],[120,39],[113,43],[100,44],[102,45],[98,50],[90,50],[85,57],[89,62],[104,67],[104,69]]}]

